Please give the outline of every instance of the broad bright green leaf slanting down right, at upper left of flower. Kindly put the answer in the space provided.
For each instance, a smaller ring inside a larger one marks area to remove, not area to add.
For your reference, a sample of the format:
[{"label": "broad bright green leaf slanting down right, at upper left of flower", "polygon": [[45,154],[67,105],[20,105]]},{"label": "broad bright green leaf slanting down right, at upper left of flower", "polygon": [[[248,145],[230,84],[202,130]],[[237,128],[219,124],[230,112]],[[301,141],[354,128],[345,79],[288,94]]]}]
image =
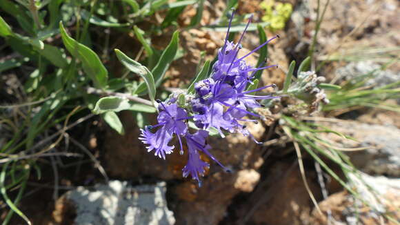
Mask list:
[{"label": "broad bright green leaf slanting down right, at upper left of flower", "polygon": [[90,48],[75,41],[70,37],[60,21],[60,31],[63,43],[68,52],[82,62],[83,70],[92,79],[94,86],[104,88],[107,85],[108,71],[101,63],[99,56],[96,55]]}]

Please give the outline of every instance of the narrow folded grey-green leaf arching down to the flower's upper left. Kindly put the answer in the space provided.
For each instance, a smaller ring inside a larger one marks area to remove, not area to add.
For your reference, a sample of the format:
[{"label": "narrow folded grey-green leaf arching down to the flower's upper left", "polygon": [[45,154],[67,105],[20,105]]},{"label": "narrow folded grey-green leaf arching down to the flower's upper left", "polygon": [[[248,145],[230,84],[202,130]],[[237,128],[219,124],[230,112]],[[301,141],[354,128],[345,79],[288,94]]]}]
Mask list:
[{"label": "narrow folded grey-green leaf arching down to the flower's upper left", "polygon": [[[152,75],[152,72],[150,72],[150,70],[148,70],[148,68],[146,68],[146,66],[141,66],[141,63],[138,63],[137,61],[130,59],[130,57],[123,54],[123,52],[121,52],[120,50],[115,49],[114,51],[117,54],[117,57],[118,57],[119,61],[121,61],[123,66],[128,68],[128,70],[130,70],[134,73],[137,73],[139,76],[141,76],[144,79],[145,83],[142,83],[143,90],[146,90],[146,86],[147,86],[150,100],[154,102],[154,97],[156,96],[156,86],[154,84],[154,77]],[[139,87],[137,88],[137,90],[138,89],[139,89]]]}]

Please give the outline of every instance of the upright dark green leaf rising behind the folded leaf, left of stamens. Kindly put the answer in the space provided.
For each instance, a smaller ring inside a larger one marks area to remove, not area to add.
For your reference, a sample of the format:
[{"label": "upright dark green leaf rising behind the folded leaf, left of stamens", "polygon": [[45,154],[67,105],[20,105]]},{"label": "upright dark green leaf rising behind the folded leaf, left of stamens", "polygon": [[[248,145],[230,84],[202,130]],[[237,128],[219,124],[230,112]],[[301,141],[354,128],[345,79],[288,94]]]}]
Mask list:
[{"label": "upright dark green leaf rising behind the folded leaf, left of stamens", "polygon": [[[163,77],[170,66],[172,60],[174,60],[175,55],[178,50],[178,42],[179,42],[179,31],[175,31],[174,35],[172,35],[172,39],[168,44],[166,50],[163,51],[157,65],[152,69],[152,75],[154,75],[155,86],[158,87],[161,85],[161,81],[163,81]],[[146,85],[144,83],[139,84],[139,87],[136,90],[136,94],[143,94],[146,90]]]}]

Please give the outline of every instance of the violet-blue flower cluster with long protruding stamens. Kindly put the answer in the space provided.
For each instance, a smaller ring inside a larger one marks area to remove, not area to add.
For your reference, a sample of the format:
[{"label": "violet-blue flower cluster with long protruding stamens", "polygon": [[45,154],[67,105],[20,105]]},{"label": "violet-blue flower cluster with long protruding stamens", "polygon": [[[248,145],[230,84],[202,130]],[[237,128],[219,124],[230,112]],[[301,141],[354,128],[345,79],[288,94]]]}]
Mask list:
[{"label": "violet-blue flower cluster with long protruding stamens", "polygon": [[[248,66],[244,59],[277,37],[272,37],[247,55],[238,58],[239,50],[241,50],[240,42],[248,28],[251,17],[238,43],[228,41],[232,17],[230,19],[225,43],[223,47],[219,49],[218,60],[214,63],[212,73],[207,79],[203,79],[194,84],[194,95],[186,93],[186,100],[188,101],[188,104],[186,104],[187,107],[180,107],[180,105],[177,104],[176,97],[171,97],[164,102],[157,101],[159,104],[159,116],[157,117],[159,124],[155,126],[146,126],[144,130],[141,130],[141,137],[139,137],[144,144],[148,145],[146,147],[148,152],[154,150],[154,155],[163,159],[166,158],[166,155],[172,153],[174,149],[174,146],[168,145],[173,136],[176,136],[179,140],[181,155],[183,155],[183,140],[185,140],[188,146],[188,163],[182,169],[183,177],[190,175],[199,182],[199,186],[201,186],[199,176],[202,176],[206,168],[210,166],[208,163],[201,160],[201,153],[207,155],[224,170],[228,171],[228,169],[209,152],[211,147],[206,142],[208,130],[210,130],[210,128],[218,130],[221,137],[225,137],[223,131],[242,133],[259,143],[241,122],[254,121],[257,123],[256,119],[244,118],[260,117],[252,113],[252,109],[262,107],[257,100],[276,98],[271,95],[252,95],[253,92],[274,85],[264,86],[254,90],[246,90],[248,85],[252,84],[254,72],[275,67],[276,65],[253,68],[252,66]],[[190,119],[194,121],[195,126],[199,129],[197,133],[192,134],[189,132],[188,120]],[[158,129],[155,133],[152,133],[150,130],[154,130],[154,128]]]}]

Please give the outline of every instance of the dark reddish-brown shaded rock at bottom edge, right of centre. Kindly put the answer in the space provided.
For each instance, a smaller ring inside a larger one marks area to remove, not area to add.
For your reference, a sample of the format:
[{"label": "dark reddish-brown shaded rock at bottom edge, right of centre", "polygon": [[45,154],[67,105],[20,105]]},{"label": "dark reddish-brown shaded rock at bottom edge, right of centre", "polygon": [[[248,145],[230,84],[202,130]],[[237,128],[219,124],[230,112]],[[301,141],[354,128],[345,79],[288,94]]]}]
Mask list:
[{"label": "dark reddish-brown shaded rock at bottom edge, right of centre", "polygon": [[[266,177],[248,195],[241,195],[230,206],[223,224],[308,224],[314,207],[303,184],[298,164],[275,162],[268,166]],[[321,199],[316,174],[306,170],[308,185]]]}]

